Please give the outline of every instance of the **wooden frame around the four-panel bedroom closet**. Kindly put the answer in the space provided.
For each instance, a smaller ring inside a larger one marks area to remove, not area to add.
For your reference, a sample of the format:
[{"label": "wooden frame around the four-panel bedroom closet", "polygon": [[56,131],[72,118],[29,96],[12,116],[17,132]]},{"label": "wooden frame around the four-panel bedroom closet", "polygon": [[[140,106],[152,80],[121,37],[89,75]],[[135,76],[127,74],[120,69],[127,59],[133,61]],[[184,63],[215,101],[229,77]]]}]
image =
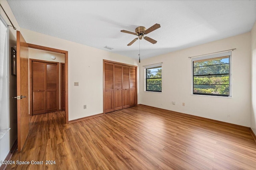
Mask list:
[{"label": "wooden frame around the four-panel bedroom closet", "polygon": [[136,69],[136,99],[135,99],[136,102],[135,103],[136,103],[136,106],[138,106],[138,75],[137,75],[138,66],[103,59],[103,113],[105,114],[105,104],[104,104],[104,100],[105,100],[105,62],[106,63],[113,63],[113,64],[120,64],[120,65],[124,65],[124,66],[135,67],[135,69]]}]

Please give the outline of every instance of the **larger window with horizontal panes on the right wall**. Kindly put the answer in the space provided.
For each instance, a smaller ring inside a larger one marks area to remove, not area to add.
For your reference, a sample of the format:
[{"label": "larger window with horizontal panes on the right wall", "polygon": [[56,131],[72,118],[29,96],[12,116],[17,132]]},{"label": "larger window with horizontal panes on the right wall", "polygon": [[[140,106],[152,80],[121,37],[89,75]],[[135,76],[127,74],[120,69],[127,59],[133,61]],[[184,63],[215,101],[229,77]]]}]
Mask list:
[{"label": "larger window with horizontal panes on the right wall", "polygon": [[192,59],[193,94],[231,96],[231,52]]}]

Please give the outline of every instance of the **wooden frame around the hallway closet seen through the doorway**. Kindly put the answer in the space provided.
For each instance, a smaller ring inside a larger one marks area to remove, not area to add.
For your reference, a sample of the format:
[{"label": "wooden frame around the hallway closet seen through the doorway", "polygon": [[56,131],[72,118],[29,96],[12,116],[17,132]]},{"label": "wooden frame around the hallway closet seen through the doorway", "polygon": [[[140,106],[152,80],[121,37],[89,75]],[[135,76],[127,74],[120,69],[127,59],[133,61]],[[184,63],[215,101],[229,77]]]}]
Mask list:
[{"label": "wooden frame around the hallway closet seen through the doorway", "polygon": [[59,107],[60,107],[60,63],[59,62],[54,62],[54,61],[44,61],[44,60],[38,60],[38,59],[29,59],[29,113],[30,113],[30,116],[32,116],[33,114],[33,89],[32,89],[32,62],[33,61],[38,61],[38,62],[43,62],[43,63],[53,63],[53,64],[57,64],[57,111],[59,111]]}]

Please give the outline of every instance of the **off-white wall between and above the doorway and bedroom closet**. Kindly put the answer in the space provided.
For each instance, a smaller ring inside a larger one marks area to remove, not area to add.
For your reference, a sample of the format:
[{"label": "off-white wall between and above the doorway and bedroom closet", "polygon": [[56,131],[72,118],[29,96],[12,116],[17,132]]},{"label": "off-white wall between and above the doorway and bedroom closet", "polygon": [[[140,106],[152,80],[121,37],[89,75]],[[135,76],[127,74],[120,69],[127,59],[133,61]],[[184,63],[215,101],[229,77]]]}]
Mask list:
[{"label": "off-white wall between and above the doorway and bedroom closet", "polygon": [[[64,39],[20,29],[27,43],[68,51],[68,119],[103,113],[103,59],[138,65],[137,60]],[[79,86],[74,86],[79,82]],[[87,109],[84,109],[87,105]]]}]

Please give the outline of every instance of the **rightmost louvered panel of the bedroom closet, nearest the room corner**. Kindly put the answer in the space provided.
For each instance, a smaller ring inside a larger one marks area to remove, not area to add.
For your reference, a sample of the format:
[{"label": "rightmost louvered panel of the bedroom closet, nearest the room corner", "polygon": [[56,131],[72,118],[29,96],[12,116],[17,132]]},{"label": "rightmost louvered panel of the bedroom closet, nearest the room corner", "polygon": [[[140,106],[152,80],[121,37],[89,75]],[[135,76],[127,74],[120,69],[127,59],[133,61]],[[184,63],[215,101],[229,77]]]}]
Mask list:
[{"label": "rightmost louvered panel of the bedroom closet, nearest the room corner", "polygon": [[130,67],[130,90],[129,90],[129,99],[130,99],[130,107],[136,106],[136,68]]}]

